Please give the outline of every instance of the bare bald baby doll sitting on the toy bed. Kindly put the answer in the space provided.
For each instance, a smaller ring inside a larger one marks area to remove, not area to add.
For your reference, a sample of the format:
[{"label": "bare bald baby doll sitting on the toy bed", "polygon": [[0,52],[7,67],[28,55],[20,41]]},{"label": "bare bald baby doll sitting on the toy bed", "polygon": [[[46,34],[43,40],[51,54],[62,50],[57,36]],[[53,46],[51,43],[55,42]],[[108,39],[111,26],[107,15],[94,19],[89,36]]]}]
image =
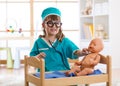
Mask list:
[{"label": "bare bald baby doll sitting on the toy bed", "polygon": [[94,67],[100,61],[99,52],[103,47],[103,42],[100,38],[93,39],[88,46],[88,51],[90,53],[86,55],[82,61],[75,62],[75,65],[71,70],[65,72],[65,74],[68,76],[69,74],[74,73],[76,76],[81,76],[93,73]]}]

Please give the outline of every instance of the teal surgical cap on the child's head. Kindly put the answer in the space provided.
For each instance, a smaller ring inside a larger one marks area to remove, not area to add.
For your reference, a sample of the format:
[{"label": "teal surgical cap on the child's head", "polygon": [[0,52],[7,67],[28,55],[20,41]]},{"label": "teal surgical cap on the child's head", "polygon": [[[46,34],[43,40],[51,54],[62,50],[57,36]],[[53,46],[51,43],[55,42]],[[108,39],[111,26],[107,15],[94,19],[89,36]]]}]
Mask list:
[{"label": "teal surgical cap on the child's head", "polygon": [[49,15],[57,15],[57,16],[61,17],[61,12],[58,8],[48,7],[46,9],[44,9],[41,14],[42,20],[44,21],[44,19]]}]

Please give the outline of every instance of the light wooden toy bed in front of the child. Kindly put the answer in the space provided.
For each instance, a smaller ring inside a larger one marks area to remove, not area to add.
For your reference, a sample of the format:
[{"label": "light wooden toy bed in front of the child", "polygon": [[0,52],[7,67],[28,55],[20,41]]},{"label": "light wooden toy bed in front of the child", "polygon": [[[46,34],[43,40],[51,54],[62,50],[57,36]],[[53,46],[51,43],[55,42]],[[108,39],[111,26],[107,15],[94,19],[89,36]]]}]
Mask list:
[{"label": "light wooden toy bed in front of the child", "polygon": [[[35,57],[25,56],[25,86],[29,86],[29,83],[35,84],[35,86],[69,86],[85,84],[89,86],[94,83],[105,82],[106,86],[111,85],[111,57],[101,55],[101,64],[106,65],[106,73],[98,75],[86,75],[77,77],[65,77],[65,78],[45,78],[44,59],[37,59]],[[40,77],[36,77],[33,73],[29,72],[29,66],[40,68]]]}]

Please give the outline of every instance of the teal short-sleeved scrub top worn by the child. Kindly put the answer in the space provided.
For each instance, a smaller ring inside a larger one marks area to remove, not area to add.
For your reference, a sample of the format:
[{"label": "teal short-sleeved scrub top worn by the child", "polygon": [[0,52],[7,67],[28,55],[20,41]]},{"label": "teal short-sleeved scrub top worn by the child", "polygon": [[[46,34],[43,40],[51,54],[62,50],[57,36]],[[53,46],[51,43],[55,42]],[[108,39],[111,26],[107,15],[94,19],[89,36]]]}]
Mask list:
[{"label": "teal short-sleeved scrub top worn by the child", "polygon": [[79,48],[68,38],[63,38],[62,42],[58,40],[50,46],[43,38],[38,38],[30,52],[30,56],[36,56],[40,52],[46,54],[45,71],[68,70],[69,63],[67,58],[76,59],[73,53]]}]

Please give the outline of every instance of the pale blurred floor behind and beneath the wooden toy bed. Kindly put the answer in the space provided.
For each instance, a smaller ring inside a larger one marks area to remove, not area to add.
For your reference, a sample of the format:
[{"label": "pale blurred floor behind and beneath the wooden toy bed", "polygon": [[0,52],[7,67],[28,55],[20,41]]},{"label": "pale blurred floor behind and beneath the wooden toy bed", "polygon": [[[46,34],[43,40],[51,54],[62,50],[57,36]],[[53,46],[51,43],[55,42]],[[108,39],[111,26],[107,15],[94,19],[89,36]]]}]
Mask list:
[{"label": "pale blurred floor behind and beneath the wooden toy bed", "polygon": [[[112,86],[120,86],[120,69],[112,71]],[[0,65],[0,86],[24,86],[24,66],[20,69],[6,69]],[[34,86],[30,84],[30,86]],[[79,85],[84,86],[84,85]],[[105,83],[90,86],[105,86]]]}]

